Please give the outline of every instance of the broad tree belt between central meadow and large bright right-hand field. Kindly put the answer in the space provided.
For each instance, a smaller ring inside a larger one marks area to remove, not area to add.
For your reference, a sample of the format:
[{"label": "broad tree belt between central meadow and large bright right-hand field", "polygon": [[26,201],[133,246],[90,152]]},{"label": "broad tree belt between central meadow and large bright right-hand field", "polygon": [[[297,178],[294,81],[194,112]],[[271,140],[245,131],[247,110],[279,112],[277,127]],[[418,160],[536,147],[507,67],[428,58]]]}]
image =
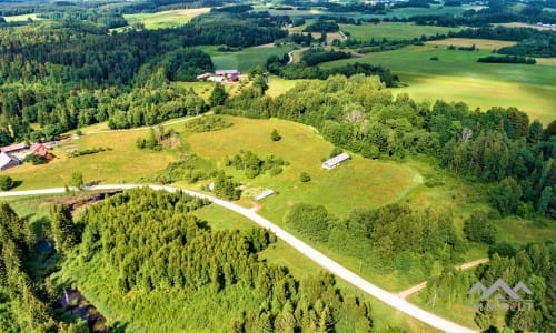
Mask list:
[{"label": "broad tree belt between central meadow and large bright right-hand field", "polygon": [[242,92],[219,112],[310,124],[366,158],[428,155],[457,175],[489,183],[502,215],[556,216],[556,122],[543,128],[515,108],[481,112],[463,102],[417,103],[384,87],[377,78],[331,77],[276,99]]}]

